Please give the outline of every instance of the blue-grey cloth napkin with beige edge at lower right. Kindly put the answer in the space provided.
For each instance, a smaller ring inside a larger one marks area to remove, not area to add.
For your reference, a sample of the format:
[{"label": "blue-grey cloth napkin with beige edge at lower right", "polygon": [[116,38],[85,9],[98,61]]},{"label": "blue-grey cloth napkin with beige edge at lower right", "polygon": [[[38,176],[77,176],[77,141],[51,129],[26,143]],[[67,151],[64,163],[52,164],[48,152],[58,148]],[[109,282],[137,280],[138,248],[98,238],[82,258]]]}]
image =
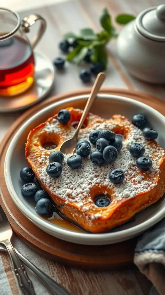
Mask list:
[{"label": "blue-grey cloth napkin with beige edge at lower right", "polygon": [[149,295],[164,295],[165,219],[139,238],[135,248],[134,263],[153,283]]}]

